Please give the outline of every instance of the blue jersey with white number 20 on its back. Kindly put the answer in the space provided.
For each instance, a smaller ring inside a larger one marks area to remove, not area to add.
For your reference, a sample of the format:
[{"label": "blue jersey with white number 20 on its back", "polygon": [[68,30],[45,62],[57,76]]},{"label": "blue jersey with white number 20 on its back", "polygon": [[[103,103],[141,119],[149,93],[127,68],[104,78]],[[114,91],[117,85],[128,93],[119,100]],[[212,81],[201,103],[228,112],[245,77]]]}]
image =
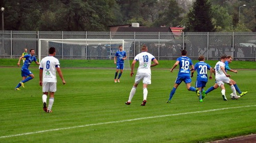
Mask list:
[{"label": "blue jersey with white number 20 on its back", "polygon": [[195,64],[195,70],[197,71],[197,81],[208,81],[207,77],[207,70],[210,70],[210,65],[208,63],[205,63],[203,61],[197,62]]}]

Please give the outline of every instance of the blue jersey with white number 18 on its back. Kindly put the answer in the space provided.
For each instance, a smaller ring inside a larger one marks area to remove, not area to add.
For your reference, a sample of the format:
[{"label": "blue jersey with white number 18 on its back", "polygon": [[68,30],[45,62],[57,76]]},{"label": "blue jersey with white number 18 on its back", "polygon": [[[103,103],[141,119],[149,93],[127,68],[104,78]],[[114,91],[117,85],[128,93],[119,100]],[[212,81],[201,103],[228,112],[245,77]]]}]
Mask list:
[{"label": "blue jersey with white number 18 on its back", "polygon": [[180,61],[180,71],[178,76],[188,76],[190,77],[190,66],[193,64],[192,60],[186,56],[177,58],[177,61]]}]

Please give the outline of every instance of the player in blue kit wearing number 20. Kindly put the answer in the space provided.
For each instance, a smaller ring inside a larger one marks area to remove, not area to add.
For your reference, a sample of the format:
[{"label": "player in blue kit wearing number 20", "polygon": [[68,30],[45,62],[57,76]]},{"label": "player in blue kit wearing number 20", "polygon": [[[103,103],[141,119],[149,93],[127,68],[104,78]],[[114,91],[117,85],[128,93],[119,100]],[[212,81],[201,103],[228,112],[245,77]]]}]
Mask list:
[{"label": "player in blue kit wearing number 20", "polygon": [[[207,70],[210,70],[210,76],[209,79],[212,79],[212,73],[213,68],[210,67],[208,63],[205,63],[205,57],[203,55],[198,57],[199,62],[195,64],[195,69],[191,72],[191,77],[193,77],[193,74],[195,70],[197,71],[197,78],[196,78],[196,88],[198,88],[197,96],[199,96],[199,102],[203,102],[204,96],[202,97],[202,91],[204,91],[204,87],[206,83],[208,82],[207,77]],[[199,95],[198,95],[199,94]]]}]

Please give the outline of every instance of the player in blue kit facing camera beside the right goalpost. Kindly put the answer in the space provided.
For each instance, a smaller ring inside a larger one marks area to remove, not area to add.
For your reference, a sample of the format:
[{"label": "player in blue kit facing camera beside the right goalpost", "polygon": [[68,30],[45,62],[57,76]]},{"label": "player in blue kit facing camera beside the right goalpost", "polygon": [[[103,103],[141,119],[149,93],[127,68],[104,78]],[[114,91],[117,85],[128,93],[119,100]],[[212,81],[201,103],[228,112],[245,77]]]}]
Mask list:
[{"label": "player in blue kit facing camera beside the right goalpost", "polygon": [[[123,50],[123,46],[118,47],[119,50],[116,52],[114,63],[116,64],[116,73],[115,73],[115,83],[120,82],[120,77],[124,71],[124,60],[126,60],[126,52]],[[116,79],[118,71],[120,70],[120,73],[118,75],[118,79]]]}]

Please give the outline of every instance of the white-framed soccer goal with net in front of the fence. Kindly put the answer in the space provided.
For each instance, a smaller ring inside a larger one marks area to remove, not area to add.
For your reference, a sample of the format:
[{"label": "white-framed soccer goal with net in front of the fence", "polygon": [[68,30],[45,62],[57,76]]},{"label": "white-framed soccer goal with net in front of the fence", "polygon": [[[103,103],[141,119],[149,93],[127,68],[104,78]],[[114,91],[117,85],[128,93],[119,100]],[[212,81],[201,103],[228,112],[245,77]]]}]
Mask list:
[{"label": "white-framed soccer goal with net in front of the fence", "polygon": [[125,69],[130,69],[129,53],[132,42],[124,40],[39,39],[38,59],[48,56],[50,47],[56,49],[58,59],[113,60],[118,46],[126,51]]}]

